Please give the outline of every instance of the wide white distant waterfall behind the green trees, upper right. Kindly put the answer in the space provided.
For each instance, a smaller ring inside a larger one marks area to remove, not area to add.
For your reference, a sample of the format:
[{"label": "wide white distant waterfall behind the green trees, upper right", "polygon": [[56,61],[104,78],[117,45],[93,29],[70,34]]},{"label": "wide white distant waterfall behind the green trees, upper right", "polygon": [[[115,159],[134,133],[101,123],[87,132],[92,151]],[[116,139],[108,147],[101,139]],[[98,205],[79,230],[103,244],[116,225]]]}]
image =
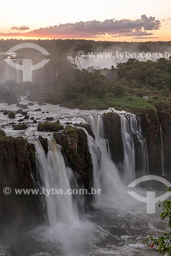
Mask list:
[{"label": "wide white distant waterfall behind the green trees, upper right", "polygon": [[[161,58],[161,53],[155,54],[143,54],[136,53],[136,59],[139,61],[147,61],[152,60],[156,61],[157,59]],[[78,67],[78,69],[88,69],[90,67],[98,70],[98,69],[110,69],[112,66],[116,67],[117,63],[124,63],[127,62],[131,57],[130,56],[118,56],[118,55],[111,55],[111,53],[104,53],[104,54],[96,54],[96,55],[83,55],[80,57],[71,57],[68,56],[68,62],[74,64]],[[135,58],[135,57],[134,57]]]}]

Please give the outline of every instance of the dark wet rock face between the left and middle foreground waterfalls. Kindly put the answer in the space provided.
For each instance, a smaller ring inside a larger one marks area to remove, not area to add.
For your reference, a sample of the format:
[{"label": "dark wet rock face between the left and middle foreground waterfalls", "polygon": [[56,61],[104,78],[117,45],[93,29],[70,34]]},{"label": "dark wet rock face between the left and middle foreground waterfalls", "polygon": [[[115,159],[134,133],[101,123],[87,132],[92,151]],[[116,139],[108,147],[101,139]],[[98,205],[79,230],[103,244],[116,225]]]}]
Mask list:
[{"label": "dark wet rock face between the left and middle foreground waterfalls", "polygon": [[86,133],[67,125],[61,133],[54,133],[54,138],[62,145],[69,165],[78,175],[78,182],[90,191],[93,185],[93,165]]}]

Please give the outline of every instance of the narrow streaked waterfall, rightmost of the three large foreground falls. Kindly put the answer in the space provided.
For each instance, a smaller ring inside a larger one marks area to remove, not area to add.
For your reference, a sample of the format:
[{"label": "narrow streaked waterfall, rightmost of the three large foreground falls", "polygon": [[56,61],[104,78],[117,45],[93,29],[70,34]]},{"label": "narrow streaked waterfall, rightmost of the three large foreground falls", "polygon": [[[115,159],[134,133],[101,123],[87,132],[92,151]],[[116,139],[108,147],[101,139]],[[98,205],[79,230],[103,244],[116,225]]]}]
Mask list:
[{"label": "narrow streaked waterfall, rightmost of the three large foreground falls", "polygon": [[120,114],[121,134],[123,142],[123,170],[126,181],[133,181],[136,178],[135,172],[135,142],[134,136],[138,139],[138,150],[141,162],[141,176],[148,174],[148,153],[145,139],[142,137],[140,118],[134,114]]}]

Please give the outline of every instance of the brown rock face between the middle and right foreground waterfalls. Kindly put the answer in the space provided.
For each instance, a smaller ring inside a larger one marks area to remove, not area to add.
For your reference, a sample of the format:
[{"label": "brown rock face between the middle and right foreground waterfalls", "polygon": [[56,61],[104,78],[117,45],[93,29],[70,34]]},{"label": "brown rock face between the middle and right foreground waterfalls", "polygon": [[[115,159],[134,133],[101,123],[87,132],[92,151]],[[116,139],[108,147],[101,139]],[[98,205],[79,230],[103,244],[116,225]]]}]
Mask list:
[{"label": "brown rock face between the middle and right foreground waterfalls", "polygon": [[111,156],[117,163],[123,162],[123,143],[120,126],[120,116],[116,113],[103,115],[105,139],[109,141]]}]

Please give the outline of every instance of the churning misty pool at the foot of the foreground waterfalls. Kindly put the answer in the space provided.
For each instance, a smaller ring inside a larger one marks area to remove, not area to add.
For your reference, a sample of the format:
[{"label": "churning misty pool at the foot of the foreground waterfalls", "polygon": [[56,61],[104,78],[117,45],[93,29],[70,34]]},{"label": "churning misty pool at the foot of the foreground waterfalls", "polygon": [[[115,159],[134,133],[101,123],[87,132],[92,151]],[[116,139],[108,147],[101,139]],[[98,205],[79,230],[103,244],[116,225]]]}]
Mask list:
[{"label": "churning misty pool at the foot of the foreground waterfalls", "polygon": [[123,205],[113,201],[108,202],[109,207],[105,201],[106,205],[89,207],[72,226],[59,222],[53,227],[41,225],[26,233],[8,234],[8,239],[3,238],[0,255],[158,255],[143,246],[142,240],[149,233],[157,236],[164,232],[167,224],[161,222],[158,210],[155,215],[147,215],[145,204],[126,198],[127,205],[123,200]]}]

